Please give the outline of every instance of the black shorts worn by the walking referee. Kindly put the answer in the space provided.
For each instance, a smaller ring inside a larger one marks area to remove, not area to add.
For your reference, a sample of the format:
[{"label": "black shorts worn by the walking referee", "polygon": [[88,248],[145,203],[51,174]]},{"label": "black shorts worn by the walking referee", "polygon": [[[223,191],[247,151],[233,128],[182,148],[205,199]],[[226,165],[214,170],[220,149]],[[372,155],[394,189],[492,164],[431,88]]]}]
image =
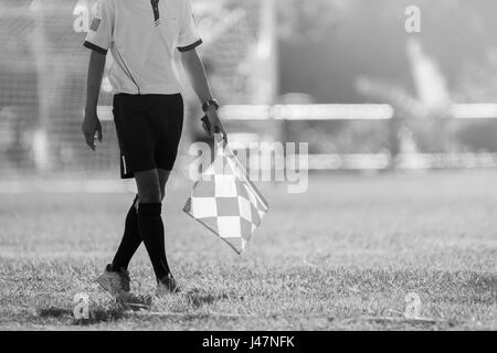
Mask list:
[{"label": "black shorts worn by the walking referee", "polygon": [[117,94],[113,106],[121,178],[157,168],[172,170],[183,127],[182,96]]}]

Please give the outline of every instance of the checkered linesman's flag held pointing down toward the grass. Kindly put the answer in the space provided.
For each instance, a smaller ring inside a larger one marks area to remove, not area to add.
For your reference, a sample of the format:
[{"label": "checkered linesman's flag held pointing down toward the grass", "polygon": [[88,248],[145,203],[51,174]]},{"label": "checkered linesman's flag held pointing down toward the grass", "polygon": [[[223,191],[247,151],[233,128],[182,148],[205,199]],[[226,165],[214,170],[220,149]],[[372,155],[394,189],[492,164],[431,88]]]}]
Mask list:
[{"label": "checkered linesman's flag held pointing down toward the grass", "polygon": [[268,205],[233,152],[216,145],[214,162],[193,185],[183,211],[241,255]]}]

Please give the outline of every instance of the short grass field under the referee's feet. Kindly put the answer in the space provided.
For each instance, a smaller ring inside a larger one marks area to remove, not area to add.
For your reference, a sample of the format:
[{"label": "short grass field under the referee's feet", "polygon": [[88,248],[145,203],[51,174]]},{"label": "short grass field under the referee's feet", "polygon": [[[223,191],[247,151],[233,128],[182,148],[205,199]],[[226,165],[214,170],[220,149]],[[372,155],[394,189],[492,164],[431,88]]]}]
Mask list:
[{"label": "short grass field under the referee's feet", "polygon": [[[183,292],[121,310],[94,278],[112,259],[130,194],[0,194],[3,330],[497,330],[497,172],[315,175],[309,191],[261,185],[272,210],[239,257],[165,206]],[[155,289],[141,247],[134,291]],[[422,315],[404,320],[417,292]],[[72,317],[86,292],[95,317]]]}]

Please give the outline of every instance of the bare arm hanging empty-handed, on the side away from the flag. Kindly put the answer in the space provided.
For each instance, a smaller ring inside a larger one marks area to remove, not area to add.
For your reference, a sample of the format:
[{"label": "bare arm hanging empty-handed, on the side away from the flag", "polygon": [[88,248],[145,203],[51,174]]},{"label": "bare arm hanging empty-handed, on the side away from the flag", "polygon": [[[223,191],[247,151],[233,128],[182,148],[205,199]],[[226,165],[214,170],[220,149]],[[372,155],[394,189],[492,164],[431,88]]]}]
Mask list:
[{"label": "bare arm hanging empty-handed, on the side away from the flag", "polygon": [[85,136],[86,145],[95,150],[95,133],[102,142],[102,125],[97,116],[98,95],[101,93],[102,79],[105,69],[105,54],[92,51],[89,54],[88,75],[86,82],[86,106],[85,118],[82,124],[82,131]]}]

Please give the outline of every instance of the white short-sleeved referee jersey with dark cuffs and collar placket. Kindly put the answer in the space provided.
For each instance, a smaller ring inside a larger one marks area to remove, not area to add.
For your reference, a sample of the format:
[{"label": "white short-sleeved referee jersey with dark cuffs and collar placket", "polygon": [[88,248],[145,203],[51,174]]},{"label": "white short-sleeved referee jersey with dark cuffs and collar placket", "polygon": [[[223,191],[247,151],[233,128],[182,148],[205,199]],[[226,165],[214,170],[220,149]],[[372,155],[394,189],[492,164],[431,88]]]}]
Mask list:
[{"label": "white short-sleeved referee jersey with dark cuffs and collar placket", "polygon": [[201,43],[190,0],[99,0],[84,45],[110,50],[115,93],[177,94],[175,51]]}]

